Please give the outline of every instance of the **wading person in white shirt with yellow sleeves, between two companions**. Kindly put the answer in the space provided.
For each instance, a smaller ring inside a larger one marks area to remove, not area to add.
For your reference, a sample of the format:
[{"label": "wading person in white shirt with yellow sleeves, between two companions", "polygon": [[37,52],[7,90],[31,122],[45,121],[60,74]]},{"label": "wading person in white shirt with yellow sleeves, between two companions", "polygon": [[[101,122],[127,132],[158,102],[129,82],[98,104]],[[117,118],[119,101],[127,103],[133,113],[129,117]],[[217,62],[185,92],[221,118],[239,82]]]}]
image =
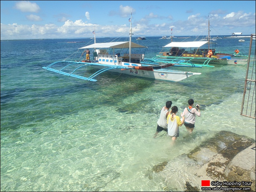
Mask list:
[{"label": "wading person in white shirt with yellow sleeves, between two companions", "polygon": [[172,137],[172,140],[176,140],[179,137],[179,127],[183,125],[185,117],[182,117],[182,120],[179,116],[177,116],[178,107],[173,106],[172,110],[169,112],[167,116],[167,128],[168,128],[168,135]]}]

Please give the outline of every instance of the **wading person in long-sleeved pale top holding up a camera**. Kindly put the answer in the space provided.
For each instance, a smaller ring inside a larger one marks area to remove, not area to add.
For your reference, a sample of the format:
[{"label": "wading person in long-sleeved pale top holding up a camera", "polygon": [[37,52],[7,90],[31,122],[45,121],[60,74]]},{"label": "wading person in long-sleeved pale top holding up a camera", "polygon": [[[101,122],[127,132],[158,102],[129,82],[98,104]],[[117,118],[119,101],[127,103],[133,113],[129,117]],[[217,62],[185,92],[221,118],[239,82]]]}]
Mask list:
[{"label": "wading person in long-sleeved pale top holding up a camera", "polygon": [[195,121],[196,121],[196,115],[197,116],[201,116],[200,113],[200,106],[196,105],[196,108],[198,109],[198,111],[196,110],[196,108],[193,108],[193,104],[194,104],[194,100],[193,99],[189,99],[188,100],[188,107],[186,107],[183,111],[183,113],[181,114],[181,117],[185,116],[185,122],[184,125],[187,129],[187,131],[189,133],[192,133],[192,131],[194,130],[195,127]]}]

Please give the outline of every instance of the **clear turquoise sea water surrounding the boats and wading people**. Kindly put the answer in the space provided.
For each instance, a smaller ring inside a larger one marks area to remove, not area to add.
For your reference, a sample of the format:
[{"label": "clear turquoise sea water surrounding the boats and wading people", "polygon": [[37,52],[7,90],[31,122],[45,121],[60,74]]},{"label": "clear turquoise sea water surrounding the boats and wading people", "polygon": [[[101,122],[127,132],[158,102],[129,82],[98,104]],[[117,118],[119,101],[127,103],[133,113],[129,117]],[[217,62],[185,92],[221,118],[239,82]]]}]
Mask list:
[{"label": "clear turquoise sea water surrounding the boats and wading people", "polygon": [[[170,42],[146,38],[146,58]],[[90,41],[1,41],[1,191],[177,190],[148,171],[221,130],[256,139],[255,119],[240,115],[246,65],[175,68],[202,73],[179,82],[109,72],[90,82],[42,69]],[[236,49],[248,55],[249,38],[217,40],[217,51]],[[176,145],[166,133],[153,138],[165,102],[180,113],[191,98],[201,106],[193,133],[180,127]]]}]

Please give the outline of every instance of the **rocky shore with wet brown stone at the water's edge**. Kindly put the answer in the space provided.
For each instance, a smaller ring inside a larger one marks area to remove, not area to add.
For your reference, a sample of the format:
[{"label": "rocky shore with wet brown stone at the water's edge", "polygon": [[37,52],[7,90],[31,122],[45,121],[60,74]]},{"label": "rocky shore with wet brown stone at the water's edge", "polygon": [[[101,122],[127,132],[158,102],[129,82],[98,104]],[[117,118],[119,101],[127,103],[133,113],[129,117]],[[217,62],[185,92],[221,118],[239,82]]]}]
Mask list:
[{"label": "rocky shore with wet brown stone at the water's edge", "polygon": [[[179,165],[181,159],[187,163]],[[189,154],[155,165],[148,170],[147,176],[170,186],[164,187],[164,191],[202,191],[202,180],[218,181],[220,184],[224,181],[245,181],[245,185],[236,183],[230,187],[250,187],[251,191],[255,191],[255,159],[254,139],[220,131]]]}]

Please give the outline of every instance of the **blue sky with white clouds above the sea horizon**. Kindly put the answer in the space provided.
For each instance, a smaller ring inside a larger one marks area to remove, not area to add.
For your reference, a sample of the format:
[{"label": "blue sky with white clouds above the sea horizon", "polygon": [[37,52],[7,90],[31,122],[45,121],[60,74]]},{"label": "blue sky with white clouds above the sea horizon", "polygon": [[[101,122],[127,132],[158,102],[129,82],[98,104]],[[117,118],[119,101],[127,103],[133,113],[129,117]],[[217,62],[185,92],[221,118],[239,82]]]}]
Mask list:
[{"label": "blue sky with white clouds above the sea horizon", "polygon": [[[1,40],[255,34],[253,1],[1,1]],[[173,28],[173,31],[171,29]]]}]

